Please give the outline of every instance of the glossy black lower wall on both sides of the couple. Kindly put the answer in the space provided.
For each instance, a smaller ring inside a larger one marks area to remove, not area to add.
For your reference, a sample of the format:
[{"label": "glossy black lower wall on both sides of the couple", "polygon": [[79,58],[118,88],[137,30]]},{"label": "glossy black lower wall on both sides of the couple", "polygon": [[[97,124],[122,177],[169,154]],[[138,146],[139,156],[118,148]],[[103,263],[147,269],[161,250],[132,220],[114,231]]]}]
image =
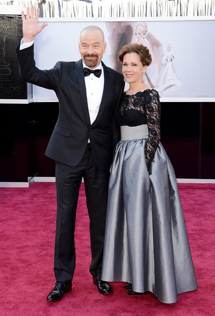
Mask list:
[{"label": "glossy black lower wall on both sides of the couple", "polygon": [[[0,182],[54,177],[44,155],[58,103],[0,104]],[[161,143],[182,179],[215,179],[215,103],[161,103]]]}]

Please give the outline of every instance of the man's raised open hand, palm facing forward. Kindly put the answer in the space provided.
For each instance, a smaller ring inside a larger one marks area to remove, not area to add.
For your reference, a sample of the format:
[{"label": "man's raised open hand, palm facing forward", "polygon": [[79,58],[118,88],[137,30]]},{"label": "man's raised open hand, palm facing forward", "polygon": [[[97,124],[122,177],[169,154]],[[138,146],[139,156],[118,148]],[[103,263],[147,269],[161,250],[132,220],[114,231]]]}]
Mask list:
[{"label": "man's raised open hand, palm facing forward", "polygon": [[47,23],[43,23],[42,25],[38,26],[37,21],[40,14],[40,9],[37,8],[37,12],[34,18],[34,6],[31,6],[31,13],[30,8],[27,7],[26,12],[26,19],[24,15],[24,11],[22,11],[22,30],[23,30],[23,43],[29,43],[34,40],[34,37],[42,31],[42,29],[47,26]]}]

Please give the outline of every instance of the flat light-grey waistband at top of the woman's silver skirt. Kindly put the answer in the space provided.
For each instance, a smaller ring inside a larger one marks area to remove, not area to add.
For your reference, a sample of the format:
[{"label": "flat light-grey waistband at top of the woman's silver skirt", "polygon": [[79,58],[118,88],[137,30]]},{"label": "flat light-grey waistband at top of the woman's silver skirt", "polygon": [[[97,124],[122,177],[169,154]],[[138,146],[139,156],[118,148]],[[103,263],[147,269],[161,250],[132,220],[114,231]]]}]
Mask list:
[{"label": "flat light-grey waistband at top of the woman's silver skirt", "polygon": [[148,125],[143,124],[139,126],[120,126],[121,140],[133,140],[148,138]]}]

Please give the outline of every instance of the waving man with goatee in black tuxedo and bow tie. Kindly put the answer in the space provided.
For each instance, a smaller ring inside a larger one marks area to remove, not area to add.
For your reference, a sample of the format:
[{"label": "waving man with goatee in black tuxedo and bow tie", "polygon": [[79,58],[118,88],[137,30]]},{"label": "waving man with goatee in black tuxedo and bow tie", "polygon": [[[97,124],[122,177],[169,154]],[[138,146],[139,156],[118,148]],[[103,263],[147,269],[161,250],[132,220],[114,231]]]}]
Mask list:
[{"label": "waving man with goatee in black tuxedo and bow tie", "polygon": [[[46,155],[56,162],[57,219],[54,252],[56,284],[48,301],[59,301],[71,291],[75,269],[74,230],[76,207],[84,179],[92,261],[90,273],[99,293],[112,288],[101,280],[109,169],[117,132],[111,125],[124,90],[123,76],[101,62],[104,33],[89,26],[80,35],[78,62],[58,62],[53,69],[39,70],[33,58],[34,37],[47,25],[37,25],[39,9],[22,12],[23,39],[17,47],[22,79],[53,89],[59,100],[59,117]],[[22,49],[24,48],[24,49]],[[95,73],[91,73],[95,70]],[[85,75],[84,75],[85,73]],[[80,282],[85,282],[80,280]]]}]

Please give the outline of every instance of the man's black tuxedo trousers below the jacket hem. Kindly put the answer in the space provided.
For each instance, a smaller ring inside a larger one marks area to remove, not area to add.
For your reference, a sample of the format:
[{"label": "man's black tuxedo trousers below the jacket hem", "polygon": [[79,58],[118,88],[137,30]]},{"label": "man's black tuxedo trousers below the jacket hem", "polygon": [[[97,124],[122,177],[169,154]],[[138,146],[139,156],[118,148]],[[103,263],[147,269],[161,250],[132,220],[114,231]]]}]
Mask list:
[{"label": "man's black tuxedo trousers below the jacket hem", "polygon": [[[54,249],[56,281],[69,281],[75,270],[75,221],[78,194],[84,179],[88,214],[90,219],[90,244],[92,260],[90,273],[97,276],[102,269],[107,209],[109,171],[99,170],[91,149],[76,167],[56,163],[57,217]],[[86,228],[88,229],[88,228]]]}]

